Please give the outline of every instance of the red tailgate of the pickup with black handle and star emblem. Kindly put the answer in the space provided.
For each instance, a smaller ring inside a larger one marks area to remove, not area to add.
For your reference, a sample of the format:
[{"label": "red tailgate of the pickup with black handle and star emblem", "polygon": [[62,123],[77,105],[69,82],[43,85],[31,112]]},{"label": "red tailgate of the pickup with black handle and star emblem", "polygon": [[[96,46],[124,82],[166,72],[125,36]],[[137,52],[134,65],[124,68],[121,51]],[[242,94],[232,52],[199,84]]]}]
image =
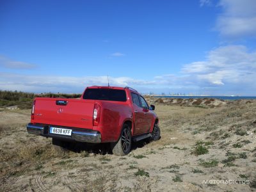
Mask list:
[{"label": "red tailgate of the pickup with black handle and star emblem", "polygon": [[[33,120],[35,123],[86,129],[93,127],[94,102],[92,100],[40,97],[35,100]],[[65,105],[56,101],[64,101]]]}]

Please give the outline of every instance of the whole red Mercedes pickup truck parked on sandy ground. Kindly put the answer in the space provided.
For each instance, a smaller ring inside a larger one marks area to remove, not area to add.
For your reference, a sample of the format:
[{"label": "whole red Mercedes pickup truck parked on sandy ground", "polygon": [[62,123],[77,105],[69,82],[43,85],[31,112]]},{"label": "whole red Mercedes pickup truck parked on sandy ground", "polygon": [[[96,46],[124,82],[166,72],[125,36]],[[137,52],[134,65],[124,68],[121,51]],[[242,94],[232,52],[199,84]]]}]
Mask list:
[{"label": "whole red Mercedes pickup truck parked on sandy ground", "polygon": [[124,156],[132,141],[159,140],[154,109],[132,88],[90,86],[81,99],[36,97],[27,130],[60,147],[74,141],[111,143],[113,154]]}]

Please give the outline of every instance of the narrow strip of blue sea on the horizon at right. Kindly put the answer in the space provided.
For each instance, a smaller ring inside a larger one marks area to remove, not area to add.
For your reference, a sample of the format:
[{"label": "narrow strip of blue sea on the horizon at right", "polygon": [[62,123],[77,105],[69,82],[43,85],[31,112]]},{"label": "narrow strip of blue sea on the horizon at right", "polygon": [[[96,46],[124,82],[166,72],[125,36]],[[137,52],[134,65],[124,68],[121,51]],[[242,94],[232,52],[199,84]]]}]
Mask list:
[{"label": "narrow strip of blue sea on the horizon at right", "polygon": [[178,96],[172,96],[172,95],[157,95],[154,97],[164,97],[164,98],[181,98],[181,99],[204,99],[204,98],[209,98],[209,99],[223,99],[223,100],[239,100],[239,99],[256,99],[255,96],[184,96],[184,95],[178,95]]}]

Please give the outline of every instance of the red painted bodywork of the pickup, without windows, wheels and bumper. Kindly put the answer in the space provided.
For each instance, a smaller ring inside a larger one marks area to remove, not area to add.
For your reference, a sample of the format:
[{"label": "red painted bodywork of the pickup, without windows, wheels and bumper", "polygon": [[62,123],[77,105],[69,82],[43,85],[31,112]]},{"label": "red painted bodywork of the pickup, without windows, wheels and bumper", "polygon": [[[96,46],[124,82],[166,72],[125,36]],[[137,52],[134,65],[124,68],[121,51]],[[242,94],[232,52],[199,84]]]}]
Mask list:
[{"label": "red painted bodywork of the pickup, without windows, wheels and bumper", "polygon": [[[134,90],[108,86],[91,86],[88,88],[125,90],[127,100],[125,102],[85,100],[83,95],[81,99],[36,97],[34,113],[31,114],[31,123],[92,129],[100,132],[102,142],[114,142],[118,140],[125,122],[131,122],[132,136],[152,132],[156,120],[158,122],[154,111],[140,108],[132,102],[131,93],[140,95]],[[67,105],[57,105],[56,100],[67,101]],[[97,110],[97,116],[93,119],[95,110]],[[134,113],[135,111],[138,113]]]}]

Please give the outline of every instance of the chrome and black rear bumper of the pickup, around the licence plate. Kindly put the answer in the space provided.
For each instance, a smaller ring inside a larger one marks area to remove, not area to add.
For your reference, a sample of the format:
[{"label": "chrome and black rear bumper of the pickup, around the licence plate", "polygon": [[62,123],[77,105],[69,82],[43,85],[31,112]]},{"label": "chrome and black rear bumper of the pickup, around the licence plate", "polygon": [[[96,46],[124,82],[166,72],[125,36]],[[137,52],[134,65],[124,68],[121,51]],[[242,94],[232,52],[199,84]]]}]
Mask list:
[{"label": "chrome and black rear bumper of the pickup, around the licence plate", "polygon": [[33,125],[29,123],[27,125],[27,131],[30,134],[37,134],[47,138],[59,138],[60,140],[71,140],[71,141],[81,141],[86,143],[101,143],[101,134],[99,131],[93,131],[91,129],[81,129],[76,127],[60,127],[65,129],[72,129],[71,136],[62,136],[59,134],[49,133],[50,125],[36,124]]}]

